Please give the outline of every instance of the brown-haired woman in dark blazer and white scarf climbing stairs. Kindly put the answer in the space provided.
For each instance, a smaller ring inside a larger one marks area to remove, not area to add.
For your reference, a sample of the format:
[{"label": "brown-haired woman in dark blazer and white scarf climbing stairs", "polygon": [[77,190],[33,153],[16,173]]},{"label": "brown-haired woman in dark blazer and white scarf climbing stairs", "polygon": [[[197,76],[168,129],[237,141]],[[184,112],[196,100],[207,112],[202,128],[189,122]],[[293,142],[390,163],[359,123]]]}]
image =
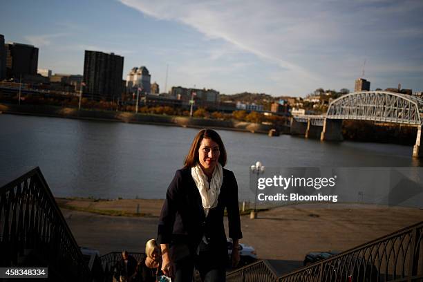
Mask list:
[{"label": "brown-haired woman in dark blazer and white scarf climbing stairs", "polygon": [[172,281],[191,281],[194,265],[203,281],[225,281],[225,208],[229,237],[234,242],[232,265],[238,264],[238,239],[242,238],[238,186],[234,173],[223,169],[226,158],[218,133],[200,130],[184,167],[176,171],[167,189],[158,243],[162,250],[162,271],[172,276]]}]

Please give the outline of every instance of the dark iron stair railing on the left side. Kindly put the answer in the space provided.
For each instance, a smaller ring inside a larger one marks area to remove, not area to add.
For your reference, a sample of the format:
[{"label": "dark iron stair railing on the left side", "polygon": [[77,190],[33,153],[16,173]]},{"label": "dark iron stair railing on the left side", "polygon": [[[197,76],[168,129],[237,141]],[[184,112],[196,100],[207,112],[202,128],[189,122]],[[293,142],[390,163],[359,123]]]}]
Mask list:
[{"label": "dark iron stair railing on the left side", "polygon": [[0,187],[0,250],[3,267],[48,267],[52,281],[91,281],[39,167]]}]

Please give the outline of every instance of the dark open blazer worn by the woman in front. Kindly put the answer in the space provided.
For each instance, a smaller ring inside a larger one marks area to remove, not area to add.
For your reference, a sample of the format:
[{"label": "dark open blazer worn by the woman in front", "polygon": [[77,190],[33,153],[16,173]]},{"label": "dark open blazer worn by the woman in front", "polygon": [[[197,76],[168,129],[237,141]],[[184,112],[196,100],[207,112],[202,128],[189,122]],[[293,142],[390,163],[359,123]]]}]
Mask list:
[{"label": "dark open blazer worn by the woman in front", "polygon": [[191,254],[196,252],[203,235],[209,239],[214,250],[227,254],[223,215],[225,207],[229,221],[229,237],[240,239],[241,221],[238,209],[238,185],[234,173],[223,169],[218,205],[204,214],[200,192],[191,176],[191,168],[176,171],[167,189],[166,200],[160,214],[158,243],[171,245],[184,243]]}]

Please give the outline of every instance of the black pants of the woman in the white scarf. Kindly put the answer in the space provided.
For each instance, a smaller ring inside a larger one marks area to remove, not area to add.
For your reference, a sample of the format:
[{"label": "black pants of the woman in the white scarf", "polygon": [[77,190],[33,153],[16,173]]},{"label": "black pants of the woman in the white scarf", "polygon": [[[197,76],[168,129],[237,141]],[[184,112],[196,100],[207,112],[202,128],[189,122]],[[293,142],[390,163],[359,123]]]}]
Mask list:
[{"label": "black pants of the woman in the white scarf", "polygon": [[203,250],[200,246],[198,256],[189,256],[175,263],[175,282],[190,282],[194,274],[194,266],[200,272],[203,282],[225,282],[226,270],[223,262],[226,257],[221,257],[212,250]]}]

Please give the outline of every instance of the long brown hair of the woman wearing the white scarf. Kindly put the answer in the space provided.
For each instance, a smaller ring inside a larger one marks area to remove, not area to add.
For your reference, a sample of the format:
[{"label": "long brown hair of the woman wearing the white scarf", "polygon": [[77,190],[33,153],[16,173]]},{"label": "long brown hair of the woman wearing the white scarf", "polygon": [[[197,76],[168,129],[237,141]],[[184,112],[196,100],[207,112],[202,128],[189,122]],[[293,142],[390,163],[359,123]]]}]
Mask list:
[{"label": "long brown hair of the woman wearing the white scarf", "polygon": [[198,149],[200,148],[201,141],[203,141],[204,138],[210,138],[218,144],[220,151],[218,162],[222,167],[225,167],[227,158],[225,146],[223,145],[222,139],[220,139],[218,133],[212,129],[201,129],[198,131],[196,137],[192,141],[191,148],[189,148],[188,154],[185,157],[184,167],[194,167],[196,165],[198,162]]}]

